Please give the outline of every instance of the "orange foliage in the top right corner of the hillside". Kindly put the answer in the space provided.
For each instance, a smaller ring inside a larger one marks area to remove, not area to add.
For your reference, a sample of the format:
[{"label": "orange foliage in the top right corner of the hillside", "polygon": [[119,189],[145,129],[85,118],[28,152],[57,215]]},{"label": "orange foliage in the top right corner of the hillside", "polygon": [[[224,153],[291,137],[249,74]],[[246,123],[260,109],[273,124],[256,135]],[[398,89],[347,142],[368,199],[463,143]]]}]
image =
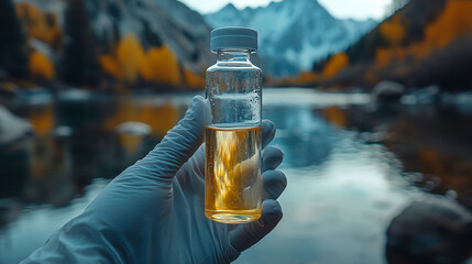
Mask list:
[{"label": "orange foliage in the top right corner of the hillside", "polygon": [[472,1],[450,0],[439,18],[426,29],[426,43],[443,47],[472,32]]}]

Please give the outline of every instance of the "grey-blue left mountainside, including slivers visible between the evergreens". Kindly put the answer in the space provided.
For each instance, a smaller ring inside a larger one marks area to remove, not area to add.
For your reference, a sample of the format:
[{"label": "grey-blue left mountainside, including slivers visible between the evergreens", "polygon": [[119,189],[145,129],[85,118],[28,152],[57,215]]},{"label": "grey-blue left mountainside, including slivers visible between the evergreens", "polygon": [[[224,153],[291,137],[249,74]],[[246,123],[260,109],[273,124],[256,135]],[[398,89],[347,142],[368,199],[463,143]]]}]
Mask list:
[{"label": "grey-blue left mountainside, including slivers visible between the evergreens", "polygon": [[[54,13],[62,30],[65,29],[65,10],[69,2],[14,0],[15,4],[29,3],[45,14]],[[99,54],[110,52],[109,50],[112,50],[121,38],[131,33],[145,51],[165,44],[184,68],[196,74],[204,73],[215,59],[209,52],[209,26],[198,12],[177,0],[84,0],[84,2]],[[30,41],[33,48],[51,54],[52,51],[45,51],[47,48],[44,48],[44,45],[35,42],[37,37],[33,38]],[[64,41],[67,41],[67,37]],[[55,55],[61,53],[56,51]]]}]

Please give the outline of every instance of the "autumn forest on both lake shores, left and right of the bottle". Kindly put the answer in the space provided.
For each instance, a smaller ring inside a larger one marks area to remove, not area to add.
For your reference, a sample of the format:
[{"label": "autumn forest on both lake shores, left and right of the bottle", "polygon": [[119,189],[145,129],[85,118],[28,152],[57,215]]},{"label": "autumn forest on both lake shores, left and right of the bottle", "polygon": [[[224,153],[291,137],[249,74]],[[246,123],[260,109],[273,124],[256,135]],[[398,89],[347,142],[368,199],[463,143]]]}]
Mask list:
[{"label": "autumn forest on both lake shores, left and right of the bottle", "polygon": [[[0,0],[0,22],[10,29],[0,32],[4,40],[0,43],[3,91],[11,90],[12,84],[111,91],[205,86],[205,67],[186,67],[162,40],[143,45],[134,33],[120,35],[118,29],[111,33],[112,40],[97,37],[83,0],[68,2],[63,26],[57,13],[33,3]],[[469,89],[471,11],[468,0],[409,1],[347,51],[314,62],[311,70],[297,76],[265,76],[266,85],[370,90],[388,79],[407,87]]]}]

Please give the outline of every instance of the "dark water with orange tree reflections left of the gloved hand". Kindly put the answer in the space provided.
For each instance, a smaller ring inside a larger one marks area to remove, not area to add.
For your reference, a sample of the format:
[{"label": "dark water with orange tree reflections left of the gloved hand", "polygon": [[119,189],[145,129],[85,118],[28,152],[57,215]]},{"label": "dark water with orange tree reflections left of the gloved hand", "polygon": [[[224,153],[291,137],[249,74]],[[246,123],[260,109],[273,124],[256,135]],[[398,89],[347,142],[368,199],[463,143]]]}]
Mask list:
[{"label": "dark water with orange tree reflections left of the gloved hand", "polygon": [[[68,206],[91,179],[114,177],[154,147],[190,97],[117,100],[72,90],[53,100],[46,91],[26,92],[11,109],[32,123],[34,136],[0,146],[0,215],[10,204]],[[1,219],[0,228],[13,221]]]}]

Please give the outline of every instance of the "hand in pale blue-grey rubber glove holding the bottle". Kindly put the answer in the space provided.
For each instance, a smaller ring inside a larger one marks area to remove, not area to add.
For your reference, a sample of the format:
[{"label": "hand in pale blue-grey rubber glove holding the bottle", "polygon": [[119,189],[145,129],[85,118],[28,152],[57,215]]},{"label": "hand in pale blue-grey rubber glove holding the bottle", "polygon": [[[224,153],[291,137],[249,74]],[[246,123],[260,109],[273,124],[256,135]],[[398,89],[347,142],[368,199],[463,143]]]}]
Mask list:
[{"label": "hand in pale blue-grey rubber glove holding the bottle", "polygon": [[[282,152],[274,146],[263,151],[260,220],[210,221],[204,212],[204,120],[205,100],[198,96],[146,157],[114,178],[22,263],[229,263],[264,238],[282,218],[275,199],[286,177],[274,170]],[[274,138],[274,124],[263,121],[262,133],[265,146]]]}]

